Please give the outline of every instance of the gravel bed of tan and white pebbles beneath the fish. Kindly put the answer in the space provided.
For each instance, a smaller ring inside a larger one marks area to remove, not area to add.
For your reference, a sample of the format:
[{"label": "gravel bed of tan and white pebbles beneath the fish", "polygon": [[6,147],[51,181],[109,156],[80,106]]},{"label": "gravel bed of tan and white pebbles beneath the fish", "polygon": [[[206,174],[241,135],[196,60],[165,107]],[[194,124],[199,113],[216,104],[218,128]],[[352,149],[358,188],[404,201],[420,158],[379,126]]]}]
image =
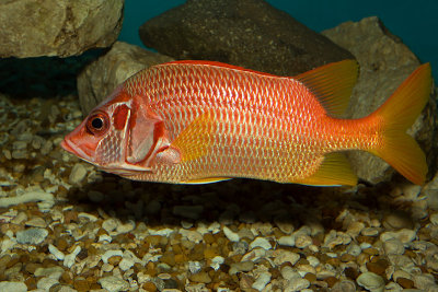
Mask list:
[{"label": "gravel bed of tan and white pebbles beneath the fish", "polygon": [[0,96],[0,291],[438,291],[427,187],[131,182],[61,150],[81,118]]}]

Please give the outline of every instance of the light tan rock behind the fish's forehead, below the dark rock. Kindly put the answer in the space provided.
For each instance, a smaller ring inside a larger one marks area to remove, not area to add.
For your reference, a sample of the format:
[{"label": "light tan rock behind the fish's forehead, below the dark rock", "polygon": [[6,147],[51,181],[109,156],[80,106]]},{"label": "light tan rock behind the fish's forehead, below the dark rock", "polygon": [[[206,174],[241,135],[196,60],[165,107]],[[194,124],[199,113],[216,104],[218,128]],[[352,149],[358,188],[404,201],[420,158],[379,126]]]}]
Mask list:
[{"label": "light tan rock behind the fish's forehead, below the dark rock", "polygon": [[117,42],[111,50],[89,65],[78,77],[78,93],[85,116],[122,82],[141,69],[173,59]]}]

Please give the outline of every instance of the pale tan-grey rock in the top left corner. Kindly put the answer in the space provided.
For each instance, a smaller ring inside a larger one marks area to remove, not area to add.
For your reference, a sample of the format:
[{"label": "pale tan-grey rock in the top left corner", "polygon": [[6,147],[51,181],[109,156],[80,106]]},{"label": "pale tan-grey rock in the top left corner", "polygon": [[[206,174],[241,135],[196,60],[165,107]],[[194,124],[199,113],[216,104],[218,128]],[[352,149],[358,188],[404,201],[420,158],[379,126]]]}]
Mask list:
[{"label": "pale tan-grey rock in the top left corner", "polygon": [[108,47],[122,30],[123,8],[123,0],[0,1],[0,57],[66,57]]}]

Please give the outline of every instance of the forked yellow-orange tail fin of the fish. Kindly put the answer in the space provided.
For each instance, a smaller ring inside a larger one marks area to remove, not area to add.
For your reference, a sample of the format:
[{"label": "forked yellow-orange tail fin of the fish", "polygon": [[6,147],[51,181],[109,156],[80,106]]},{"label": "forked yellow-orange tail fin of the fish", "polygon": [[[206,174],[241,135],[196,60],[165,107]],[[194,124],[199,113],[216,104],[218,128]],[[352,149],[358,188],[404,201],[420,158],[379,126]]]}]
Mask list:
[{"label": "forked yellow-orange tail fin of the fish", "polygon": [[425,183],[428,167],[425,153],[406,130],[428,102],[430,86],[430,65],[425,63],[372,114],[382,120],[382,143],[370,152],[387,161],[416,185]]}]

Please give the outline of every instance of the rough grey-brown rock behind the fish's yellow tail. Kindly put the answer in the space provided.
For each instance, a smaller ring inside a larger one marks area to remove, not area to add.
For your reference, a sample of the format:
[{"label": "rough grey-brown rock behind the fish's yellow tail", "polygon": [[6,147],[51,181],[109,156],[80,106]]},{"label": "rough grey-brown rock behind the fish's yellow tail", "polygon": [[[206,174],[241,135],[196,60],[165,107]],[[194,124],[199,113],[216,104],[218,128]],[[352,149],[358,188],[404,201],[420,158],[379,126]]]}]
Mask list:
[{"label": "rough grey-brown rock behind the fish's yellow tail", "polygon": [[[360,65],[360,75],[346,113],[348,118],[364,117],[376,110],[419,66],[418,58],[376,16],[346,22],[322,34],[351,51]],[[436,141],[430,132],[437,126],[436,112],[436,103],[430,98],[423,115],[408,130],[420,143],[429,163],[435,163]],[[349,152],[348,157],[355,173],[372,184],[388,180],[394,173],[385,162],[368,152]],[[435,173],[435,165],[430,170]]]}]

